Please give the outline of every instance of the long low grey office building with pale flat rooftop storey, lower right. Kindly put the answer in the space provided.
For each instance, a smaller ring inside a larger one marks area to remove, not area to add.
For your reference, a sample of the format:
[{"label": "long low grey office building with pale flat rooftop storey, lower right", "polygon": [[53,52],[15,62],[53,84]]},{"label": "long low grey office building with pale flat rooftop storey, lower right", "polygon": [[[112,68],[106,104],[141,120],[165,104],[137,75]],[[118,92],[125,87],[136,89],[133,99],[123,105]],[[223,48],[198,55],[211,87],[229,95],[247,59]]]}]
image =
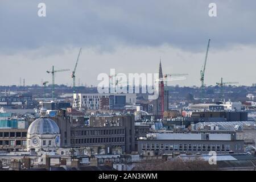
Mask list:
[{"label": "long low grey office building with pale flat rooftop storey, lower right", "polygon": [[208,154],[240,153],[243,140],[236,133],[152,133],[138,140],[138,152],[146,156],[185,153]]}]

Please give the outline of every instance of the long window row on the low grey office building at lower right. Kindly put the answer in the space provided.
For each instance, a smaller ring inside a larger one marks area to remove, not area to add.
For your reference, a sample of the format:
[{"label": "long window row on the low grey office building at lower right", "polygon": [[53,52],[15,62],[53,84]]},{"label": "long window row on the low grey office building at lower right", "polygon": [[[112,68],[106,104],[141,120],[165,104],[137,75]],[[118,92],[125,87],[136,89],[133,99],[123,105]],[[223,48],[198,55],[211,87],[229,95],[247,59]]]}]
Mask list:
[{"label": "long window row on the low grey office building at lower right", "polygon": [[[142,150],[165,151],[230,151],[229,144],[142,144]],[[242,150],[241,144],[236,145],[236,150]]]}]

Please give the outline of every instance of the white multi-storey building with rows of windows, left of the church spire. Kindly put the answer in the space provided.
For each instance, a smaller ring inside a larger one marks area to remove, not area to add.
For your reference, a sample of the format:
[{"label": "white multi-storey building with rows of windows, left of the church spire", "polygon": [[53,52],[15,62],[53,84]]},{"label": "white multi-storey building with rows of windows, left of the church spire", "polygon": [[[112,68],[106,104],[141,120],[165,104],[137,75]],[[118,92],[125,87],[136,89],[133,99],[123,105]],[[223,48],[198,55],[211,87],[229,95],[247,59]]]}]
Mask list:
[{"label": "white multi-storey building with rows of windows, left of the church spire", "polygon": [[109,98],[110,95],[126,96],[126,104],[134,105],[136,104],[136,94],[127,93],[127,94],[100,94],[100,93],[77,93],[73,94],[73,107],[75,108],[87,108],[89,110],[98,110],[100,109],[101,98]]}]

